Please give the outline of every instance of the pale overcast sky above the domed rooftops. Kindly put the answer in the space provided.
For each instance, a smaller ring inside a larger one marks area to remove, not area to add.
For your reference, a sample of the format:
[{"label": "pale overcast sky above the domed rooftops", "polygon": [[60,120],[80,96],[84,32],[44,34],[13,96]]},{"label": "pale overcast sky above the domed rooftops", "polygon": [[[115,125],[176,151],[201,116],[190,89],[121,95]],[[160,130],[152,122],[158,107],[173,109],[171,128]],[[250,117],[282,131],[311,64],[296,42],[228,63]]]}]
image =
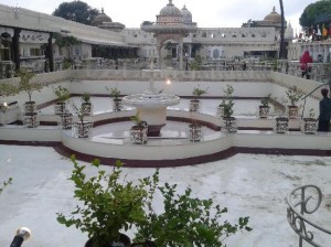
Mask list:
[{"label": "pale overcast sky above the domed rooftops", "polygon": [[[285,17],[295,31],[299,29],[299,18],[303,9],[317,0],[284,0]],[[22,7],[51,14],[64,0],[0,0],[11,7]],[[67,0],[71,2],[71,0]],[[126,28],[139,28],[143,21],[156,21],[156,15],[169,0],[84,0],[92,8],[102,10],[114,22]],[[263,20],[273,7],[280,13],[279,0],[173,0],[179,9],[185,4],[193,22],[199,28],[239,28],[249,19]]]}]

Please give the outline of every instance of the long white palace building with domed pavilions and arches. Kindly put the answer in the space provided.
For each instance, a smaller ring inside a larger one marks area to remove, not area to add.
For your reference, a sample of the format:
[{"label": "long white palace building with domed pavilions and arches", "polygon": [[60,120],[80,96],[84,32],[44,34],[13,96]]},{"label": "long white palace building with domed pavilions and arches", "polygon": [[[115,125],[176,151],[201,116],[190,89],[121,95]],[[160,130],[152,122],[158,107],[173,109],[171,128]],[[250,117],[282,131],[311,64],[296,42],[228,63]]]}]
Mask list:
[{"label": "long white palace building with domed pavilions and arches", "polygon": [[[0,4],[0,71],[7,64],[19,68],[23,63],[38,72],[54,71],[64,57],[156,58],[159,67],[177,69],[186,68],[196,56],[203,63],[277,57],[279,14],[275,8],[258,23],[256,28],[197,28],[189,8],[179,9],[172,0],[161,8],[156,22],[145,21],[136,29],[113,22],[104,10],[94,20],[94,26],[88,26]],[[79,44],[58,47],[57,34],[74,36]]]}]

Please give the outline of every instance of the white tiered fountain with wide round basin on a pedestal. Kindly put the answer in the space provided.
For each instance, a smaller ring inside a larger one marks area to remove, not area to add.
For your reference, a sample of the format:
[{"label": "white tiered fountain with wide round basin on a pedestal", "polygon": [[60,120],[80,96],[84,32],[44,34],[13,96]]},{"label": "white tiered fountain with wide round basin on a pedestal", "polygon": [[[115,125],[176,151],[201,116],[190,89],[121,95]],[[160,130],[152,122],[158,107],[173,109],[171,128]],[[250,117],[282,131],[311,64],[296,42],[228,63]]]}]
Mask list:
[{"label": "white tiered fountain with wide round basin on a pedestal", "polygon": [[140,120],[148,125],[148,137],[159,137],[161,128],[167,121],[167,107],[174,106],[180,103],[180,97],[175,95],[163,94],[154,87],[153,57],[151,58],[149,72],[149,88],[142,94],[125,96],[122,103],[127,106],[137,108]]}]

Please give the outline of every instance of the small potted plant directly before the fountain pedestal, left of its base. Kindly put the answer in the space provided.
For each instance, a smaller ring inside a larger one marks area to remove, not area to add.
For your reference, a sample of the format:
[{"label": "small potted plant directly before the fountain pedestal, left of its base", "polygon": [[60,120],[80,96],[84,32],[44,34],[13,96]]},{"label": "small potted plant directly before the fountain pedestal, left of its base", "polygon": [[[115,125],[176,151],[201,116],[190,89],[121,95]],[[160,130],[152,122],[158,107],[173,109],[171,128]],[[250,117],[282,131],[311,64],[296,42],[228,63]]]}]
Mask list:
[{"label": "small potted plant directly before the fountain pedestal, left of its base", "polygon": [[148,125],[139,118],[139,111],[130,118],[135,125],[130,128],[130,141],[137,144],[147,142]]}]

